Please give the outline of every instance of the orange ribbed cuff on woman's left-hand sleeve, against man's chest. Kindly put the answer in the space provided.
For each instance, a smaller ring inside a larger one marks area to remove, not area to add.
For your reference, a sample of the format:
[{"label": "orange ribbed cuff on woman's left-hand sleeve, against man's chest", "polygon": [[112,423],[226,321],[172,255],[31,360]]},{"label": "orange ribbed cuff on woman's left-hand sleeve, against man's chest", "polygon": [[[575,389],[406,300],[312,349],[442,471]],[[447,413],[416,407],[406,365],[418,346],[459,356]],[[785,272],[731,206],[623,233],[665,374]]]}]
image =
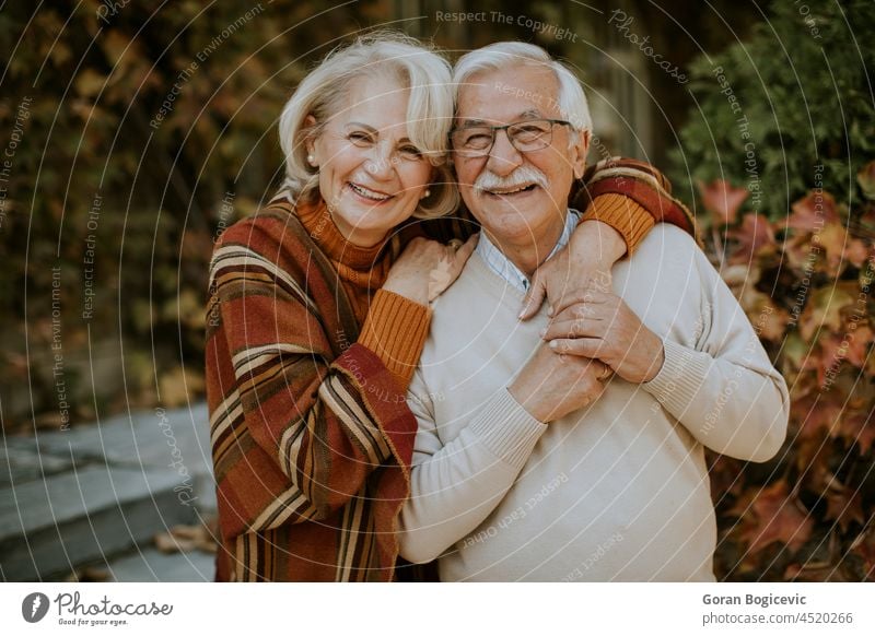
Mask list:
[{"label": "orange ribbed cuff on woman's left-hand sleeve, against man's chest", "polygon": [[359,344],[373,351],[406,391],[430,323],[431,311],[424,305],[378,290],[364,319]]}]

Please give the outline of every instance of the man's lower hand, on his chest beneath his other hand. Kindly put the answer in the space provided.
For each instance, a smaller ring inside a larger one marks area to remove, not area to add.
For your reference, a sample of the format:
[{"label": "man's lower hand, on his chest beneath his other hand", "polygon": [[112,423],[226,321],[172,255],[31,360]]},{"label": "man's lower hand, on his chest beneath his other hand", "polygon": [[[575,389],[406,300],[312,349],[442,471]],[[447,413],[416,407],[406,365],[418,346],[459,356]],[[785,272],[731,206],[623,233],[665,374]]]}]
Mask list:
[{"label": "man's lower hand, on his chest beneath his other hand", "polygon": [[542,345],[510,387],[511,396],[545,424],[598,399],[610,369],[598,361],[559,355]]}]

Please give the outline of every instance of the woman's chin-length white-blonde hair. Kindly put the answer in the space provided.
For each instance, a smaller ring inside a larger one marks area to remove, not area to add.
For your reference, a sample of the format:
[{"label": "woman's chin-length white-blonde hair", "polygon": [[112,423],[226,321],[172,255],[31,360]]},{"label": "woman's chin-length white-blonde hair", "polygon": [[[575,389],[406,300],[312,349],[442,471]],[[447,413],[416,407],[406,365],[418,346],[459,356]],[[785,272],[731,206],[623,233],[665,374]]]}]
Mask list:
[{"label": "woman's chin-length white-blonde hair", "polygon": [[[295,198],[312,198],[318,188],[318,170],[306,161],[305,142],[343,108],[352,82],[374,76],[389,76],[409,90],[408,137],[435,168],[431,193],[420,201],[413,216],[431,219],[453,212],[458,191],[447,163],[453,123],[451,66],[433,48],[396,32],[373,32],[334,49],[285,103],[279,125],[285,155],[283,187]],[[307,126],[310,115],[316,126]]]}]

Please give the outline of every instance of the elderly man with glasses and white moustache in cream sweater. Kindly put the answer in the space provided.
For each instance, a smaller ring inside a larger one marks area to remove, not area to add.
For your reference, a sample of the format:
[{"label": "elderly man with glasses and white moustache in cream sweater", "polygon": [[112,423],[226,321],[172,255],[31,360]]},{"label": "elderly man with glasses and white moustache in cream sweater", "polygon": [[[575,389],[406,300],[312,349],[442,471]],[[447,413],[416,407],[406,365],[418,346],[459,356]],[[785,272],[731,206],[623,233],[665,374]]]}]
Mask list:
[{"label": "elderly man with glasses and white moustache in cream sweater", "polygon": [[521,322],[526,282],[578,223],[564,202],[584,170],[585,96],[521,43],[466,55],[454,81],[455,167],[482,234],[434,304],[408,394],[401,554],[439,557],[447,581],[713,580],[704,447],[771,458],[785,382],[695,242],[665,224],[606,288]]}]

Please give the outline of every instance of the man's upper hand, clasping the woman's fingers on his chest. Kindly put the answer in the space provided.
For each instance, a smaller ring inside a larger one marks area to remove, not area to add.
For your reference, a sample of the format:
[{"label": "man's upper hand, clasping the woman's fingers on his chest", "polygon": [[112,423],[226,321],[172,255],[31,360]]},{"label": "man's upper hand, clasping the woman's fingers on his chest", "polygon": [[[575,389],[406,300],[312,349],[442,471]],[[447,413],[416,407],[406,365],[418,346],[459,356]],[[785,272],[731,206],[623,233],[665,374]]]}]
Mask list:
[{"label": "man's upper hand, clasping the woman's fingers on his chest", "polygon": [[663,342],[619,296],[600,290],[576,292],[553,316],[542,338],[557,353],[597,358],[630,382],[656,377],[665,362]]}]

